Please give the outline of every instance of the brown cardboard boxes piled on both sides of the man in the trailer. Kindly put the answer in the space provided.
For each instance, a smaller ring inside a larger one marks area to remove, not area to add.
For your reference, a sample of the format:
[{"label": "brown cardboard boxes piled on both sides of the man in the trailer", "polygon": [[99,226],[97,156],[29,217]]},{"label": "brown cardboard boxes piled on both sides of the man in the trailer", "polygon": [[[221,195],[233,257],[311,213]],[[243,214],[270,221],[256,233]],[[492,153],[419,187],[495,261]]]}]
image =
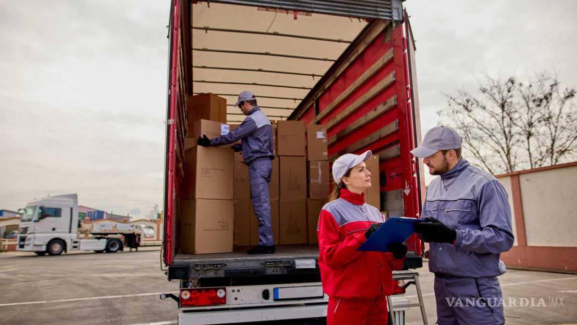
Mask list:
[{"label": "brown cardboard boxes piled on both sides of the man in the trailer", "polygon": [[[230,145],[197,146],[199,136],[224,135],[226,101],[213,94],[189,98],[182,200],[182,253],[232,252],[258,245],[258,221],[250,200],[249,167]],[[327,130],[302,121],[273,122],[271,221],[276,245],[317,243],[317,222],[329,195]]]}]

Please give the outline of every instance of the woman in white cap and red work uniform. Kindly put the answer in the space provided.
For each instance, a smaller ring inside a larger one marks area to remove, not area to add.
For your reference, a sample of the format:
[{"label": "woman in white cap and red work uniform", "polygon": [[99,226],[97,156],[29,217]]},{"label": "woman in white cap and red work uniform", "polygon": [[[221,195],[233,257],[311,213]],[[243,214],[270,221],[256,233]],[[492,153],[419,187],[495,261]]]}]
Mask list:
[{"label": "woman in white cap and red work uniform", "polygon": [[327,325],[387,324],[392,270],[402,269],[407,253],[402,243],[389,245],[387,253],[357,250],[385,221],[365,203],[363,192],[371,186],[365,161],[371,156],[345,154],[332,165],[335,190],[317,229],[321,280],[329,296]]}]

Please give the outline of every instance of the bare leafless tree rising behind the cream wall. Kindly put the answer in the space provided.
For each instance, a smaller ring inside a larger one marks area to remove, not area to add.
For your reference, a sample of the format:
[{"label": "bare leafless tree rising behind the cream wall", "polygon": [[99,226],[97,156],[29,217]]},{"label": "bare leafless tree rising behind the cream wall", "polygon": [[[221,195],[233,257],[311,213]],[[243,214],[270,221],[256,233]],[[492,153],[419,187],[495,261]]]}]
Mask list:
[{"label": "bare leafless tree rising behind the cream wall", "polygon": [[575,88],[540,73],[527,82],[485,75],[479,94],[447,95],[439,115],[463,137],[473,162],[491,173],[554,165],[575,157]]}]

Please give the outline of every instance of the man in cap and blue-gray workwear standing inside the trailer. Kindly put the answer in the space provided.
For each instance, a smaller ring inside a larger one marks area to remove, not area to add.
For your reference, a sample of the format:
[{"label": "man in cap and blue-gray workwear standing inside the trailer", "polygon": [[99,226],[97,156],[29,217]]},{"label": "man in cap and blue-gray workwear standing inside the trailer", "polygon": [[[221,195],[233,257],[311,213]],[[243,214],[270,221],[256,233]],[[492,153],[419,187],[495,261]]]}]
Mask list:
[{"label": "man in cap and blue-gray workwear standing inside the trailer", "polygon": [[248,250],[249,254],[272,254],[275,240],[272,236],[271,204],[268,185],[271,182],[272,162],[275,158],[272,140],[272,124],[257,106],[256,97],[250,91],[238,95],[235,106],[246,115],[244,121],[226,135],[209,139],[206,135],[198,138],[200,146],[223,146],[234,144],[235,152],[242,150],[245,164],[249,167],[250,192],[254,214],[258,219],[258,246]]}]

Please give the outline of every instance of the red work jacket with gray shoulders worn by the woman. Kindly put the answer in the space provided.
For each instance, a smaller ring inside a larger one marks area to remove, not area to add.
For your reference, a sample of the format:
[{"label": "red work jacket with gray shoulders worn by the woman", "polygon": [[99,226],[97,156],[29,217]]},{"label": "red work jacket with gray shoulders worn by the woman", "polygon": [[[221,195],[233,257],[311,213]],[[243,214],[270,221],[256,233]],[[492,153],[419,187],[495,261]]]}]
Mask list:
[{"label": "red work jacket with gray shoulders worn by the woman", "polygon": [[377,298],[391,295],[392,270],[403,268],[403,259],[391,253],[357,250],[366,241],[370,224],[384,222],[379,210],[365,203],[365,194],[340,190],[319,215],[319,267],[323,290],[331,297]]}]

